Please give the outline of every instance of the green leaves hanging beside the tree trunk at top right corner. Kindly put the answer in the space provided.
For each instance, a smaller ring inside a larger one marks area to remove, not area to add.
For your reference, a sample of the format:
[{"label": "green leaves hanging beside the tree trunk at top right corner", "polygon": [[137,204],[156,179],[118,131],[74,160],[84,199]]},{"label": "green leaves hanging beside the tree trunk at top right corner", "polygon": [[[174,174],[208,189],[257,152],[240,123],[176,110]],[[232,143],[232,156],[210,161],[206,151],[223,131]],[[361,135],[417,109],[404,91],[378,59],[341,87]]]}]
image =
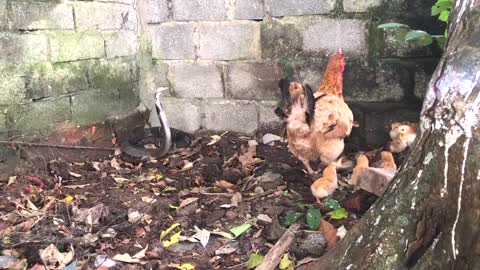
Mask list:
[{"label": "green leaves hanging beside the tree trunk at top right corner", "polygon": [[[437,0],[432,6],[432,16],[438,16],[438,20],[448,24],[450,12],[452,11],[453,0]],[[379,29],[397,29],[397,28],[410,28],[406,24],[401,23],[384,23],[378,26]],[[445,27],[443,35],[432,35],[422,30],[411,30],[403,37],[405,41],[417,42],[420,46],[428,46],[432,44],[433,40],[436,40],[441,48],[445,47],[445,42],[448,37],[448,28]]]}]

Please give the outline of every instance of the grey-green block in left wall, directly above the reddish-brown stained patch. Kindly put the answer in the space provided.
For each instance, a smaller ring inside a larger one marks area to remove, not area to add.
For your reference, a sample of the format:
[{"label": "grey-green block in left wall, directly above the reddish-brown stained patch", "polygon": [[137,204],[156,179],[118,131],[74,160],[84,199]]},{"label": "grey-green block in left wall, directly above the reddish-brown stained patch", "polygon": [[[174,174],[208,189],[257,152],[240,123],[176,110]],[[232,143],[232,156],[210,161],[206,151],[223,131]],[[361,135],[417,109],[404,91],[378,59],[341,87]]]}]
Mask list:
[{"label": "grey-green block in left wall, directly above the reddish-brown stained patch", "polygon": [[[122,111],[116,89],[95,89],[79,92],[71,98],[73,121],[80,125],[104,121]],[[92,110],[92,107],[95,109]]]}]

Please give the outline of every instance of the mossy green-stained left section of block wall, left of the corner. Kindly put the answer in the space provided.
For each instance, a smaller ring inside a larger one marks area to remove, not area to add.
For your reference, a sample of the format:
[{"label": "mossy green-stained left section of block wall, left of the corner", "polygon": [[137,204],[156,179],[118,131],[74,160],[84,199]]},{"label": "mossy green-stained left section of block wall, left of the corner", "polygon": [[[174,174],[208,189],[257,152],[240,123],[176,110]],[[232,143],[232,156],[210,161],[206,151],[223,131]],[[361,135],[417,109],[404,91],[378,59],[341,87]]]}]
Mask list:
[{"label": "mossy green-stained left section of block wall, left of the corner", "polygon": [[0,0],[0,136],[90,124],[139,102],[131,0]]}]

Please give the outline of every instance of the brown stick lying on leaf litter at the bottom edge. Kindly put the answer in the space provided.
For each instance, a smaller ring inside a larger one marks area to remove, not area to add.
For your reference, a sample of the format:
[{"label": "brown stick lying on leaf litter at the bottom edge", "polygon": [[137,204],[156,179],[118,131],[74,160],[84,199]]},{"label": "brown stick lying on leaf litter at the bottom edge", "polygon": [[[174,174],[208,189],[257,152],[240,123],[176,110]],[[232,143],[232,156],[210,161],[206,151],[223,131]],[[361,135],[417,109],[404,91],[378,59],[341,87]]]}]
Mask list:
[{"label": "brown stick lying on leaf litter at the bottom edge", "polygon": [[255,270],[275,270],[280,263],[283,254],[288,250],[295,240],[295,233],[300,229],[300,224],[295,223],[278,239],[277,243],[270,249],[262,263]]}]

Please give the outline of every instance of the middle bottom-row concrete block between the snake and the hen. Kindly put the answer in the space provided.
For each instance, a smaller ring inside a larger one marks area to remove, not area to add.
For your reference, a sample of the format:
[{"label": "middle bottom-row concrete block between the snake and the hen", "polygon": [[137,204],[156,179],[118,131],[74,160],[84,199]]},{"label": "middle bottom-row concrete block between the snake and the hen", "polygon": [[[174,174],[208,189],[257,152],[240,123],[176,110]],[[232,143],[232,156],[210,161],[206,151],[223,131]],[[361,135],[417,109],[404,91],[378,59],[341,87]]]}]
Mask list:
[{"label": "middle bottom-row concrete block between the snake and the hen", "polygon": [[250,102],[211,99],[204,110],[203,127],[209,131],[253,134],[258,128],[257,107]]}]

